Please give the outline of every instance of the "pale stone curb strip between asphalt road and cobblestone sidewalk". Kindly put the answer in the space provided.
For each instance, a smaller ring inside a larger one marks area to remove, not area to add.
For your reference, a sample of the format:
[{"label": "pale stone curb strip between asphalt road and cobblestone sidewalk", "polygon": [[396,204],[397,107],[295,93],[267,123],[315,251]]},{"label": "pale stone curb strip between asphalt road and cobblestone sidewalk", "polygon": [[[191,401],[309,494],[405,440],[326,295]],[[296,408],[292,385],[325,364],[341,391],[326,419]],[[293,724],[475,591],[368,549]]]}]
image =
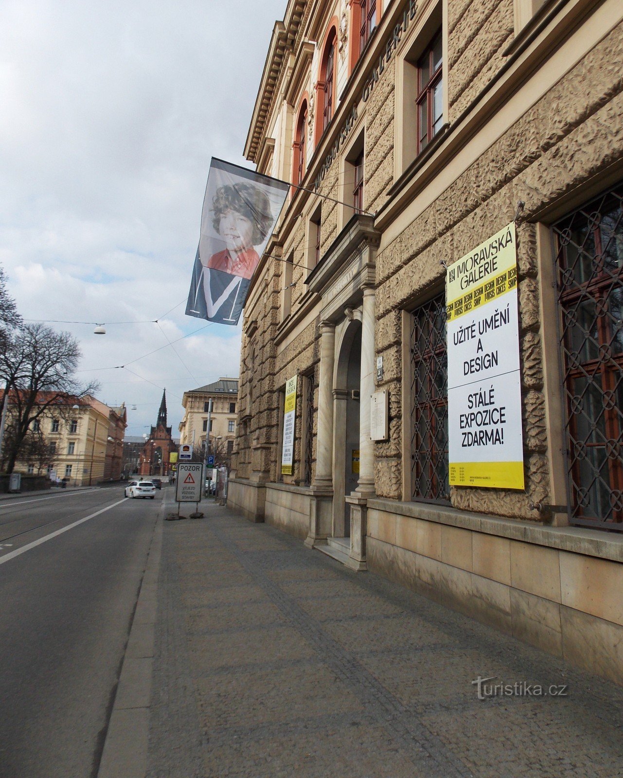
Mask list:
[{"label": "pale stone curb strip between asphalt road and cobblestone sidewalk", "polygon": [[145,778],[147,772],[158,573],[165,510],[163,500],[149,546],[97,778]]}]

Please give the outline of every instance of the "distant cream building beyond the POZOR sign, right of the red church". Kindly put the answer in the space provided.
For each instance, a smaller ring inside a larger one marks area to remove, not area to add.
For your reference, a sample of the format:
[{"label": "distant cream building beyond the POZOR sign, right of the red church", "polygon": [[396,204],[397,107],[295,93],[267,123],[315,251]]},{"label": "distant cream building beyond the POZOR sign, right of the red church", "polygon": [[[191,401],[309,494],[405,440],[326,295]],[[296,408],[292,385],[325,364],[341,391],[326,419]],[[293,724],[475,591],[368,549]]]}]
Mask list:
[{"label": "distant cream building beyond the POZOR sign, right of the red church", "polygon": [[[210,402],[212,411],[208,421]],[[209,435],[210,453],[219,461],[229,462],[238,420],[238,379],[219,378],[213,384],[185,391],[182,405],[180,443],[190,443],[201,452]]]}]

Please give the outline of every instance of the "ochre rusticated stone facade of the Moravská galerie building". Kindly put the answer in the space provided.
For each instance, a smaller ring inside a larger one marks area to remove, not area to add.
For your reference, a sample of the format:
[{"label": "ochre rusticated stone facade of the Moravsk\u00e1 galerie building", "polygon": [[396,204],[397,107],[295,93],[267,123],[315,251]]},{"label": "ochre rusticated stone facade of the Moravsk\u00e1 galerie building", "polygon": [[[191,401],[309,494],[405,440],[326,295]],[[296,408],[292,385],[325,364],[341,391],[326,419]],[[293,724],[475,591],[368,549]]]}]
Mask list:
[{"label": "ochre rusticated stone facade of the Moravsk\u00e1 galerie building", "polygon": [[[616,0],[289,0],[245,153],[304,188],[247,298],[228,498],[618,682],[622,61]],[[519,489],[449,459],[448,318],[481,296],[446,282],[503,230]]]}]

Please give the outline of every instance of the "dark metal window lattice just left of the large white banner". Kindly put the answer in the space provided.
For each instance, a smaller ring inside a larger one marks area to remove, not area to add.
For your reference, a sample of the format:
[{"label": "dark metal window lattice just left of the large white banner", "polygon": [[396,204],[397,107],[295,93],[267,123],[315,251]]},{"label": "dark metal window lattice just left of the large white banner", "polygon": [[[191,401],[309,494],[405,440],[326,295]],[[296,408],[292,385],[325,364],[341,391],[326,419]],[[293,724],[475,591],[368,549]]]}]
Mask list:
[{"label": "dark metal window lattice just left of the large white banner", "polygon": [[446,300],[413,314],[411,331],[411,483],[415,499],[450,499]]}]

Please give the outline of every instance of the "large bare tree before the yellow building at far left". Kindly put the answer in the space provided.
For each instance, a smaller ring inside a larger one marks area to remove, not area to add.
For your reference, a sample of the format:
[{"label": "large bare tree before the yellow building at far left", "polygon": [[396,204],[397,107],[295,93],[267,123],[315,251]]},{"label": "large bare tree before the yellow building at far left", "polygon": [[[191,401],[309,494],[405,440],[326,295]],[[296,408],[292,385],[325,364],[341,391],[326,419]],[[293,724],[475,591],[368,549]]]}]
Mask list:
[{"label": "large bare tree before the yellow building at far left", "polygon": [[9,333],[0,353],[0,379],[9,389],[14,431],[3,446],[5,472],[12,473],[31,425],[44,415],[65,417],[73,404],[93,395],[98,384],[82,384],[75,371],[82,356],[68,332],[25,324]]}]

